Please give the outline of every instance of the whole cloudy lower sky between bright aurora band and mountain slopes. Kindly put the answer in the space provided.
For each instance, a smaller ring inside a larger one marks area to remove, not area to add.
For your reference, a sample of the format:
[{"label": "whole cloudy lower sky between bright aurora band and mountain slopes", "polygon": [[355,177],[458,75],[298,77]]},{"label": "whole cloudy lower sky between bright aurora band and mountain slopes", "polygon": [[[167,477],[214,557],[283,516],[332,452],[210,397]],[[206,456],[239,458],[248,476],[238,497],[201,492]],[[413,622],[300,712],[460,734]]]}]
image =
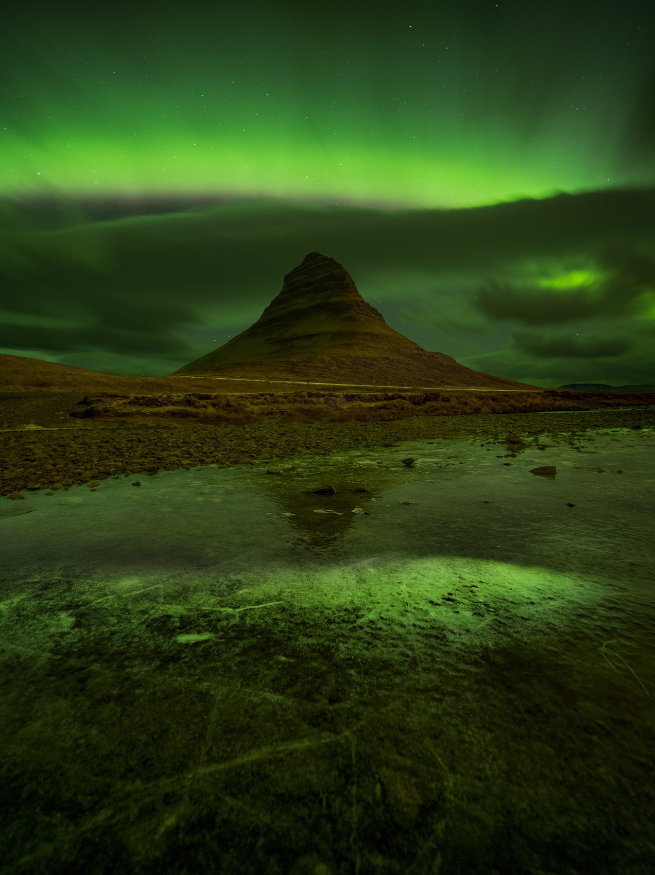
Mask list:
[{"label": "whole cloudy lower sky between bright aurora band and mountain slopes", "polygon": [[[380,309],[396,330],[449,354],[468,356],[483,339],[487,351],[506,347],[507,322],[534,329],[611,318],[620,329],[653,305],[652,190],[458,210],[241,200],[111,221],[83,221],[86,207],[67,202],[47,215],[44,205],[0,206],[4,350],[42,349],[76,364],[71,356],[84,353],[80,367],[91,368],[95,352],[106,370],[115,362],[115,373],[133,360],[170,373],[225,343],[317,250],[343,263],[374,306],[384,298]],[[578,264],[601,278],[566,290],[535,279]],[[516,342],[516,354],[533,359],[608,360],[601,346],[556,353],[564,347],[554,341],[539,352],[527,333]]]}]

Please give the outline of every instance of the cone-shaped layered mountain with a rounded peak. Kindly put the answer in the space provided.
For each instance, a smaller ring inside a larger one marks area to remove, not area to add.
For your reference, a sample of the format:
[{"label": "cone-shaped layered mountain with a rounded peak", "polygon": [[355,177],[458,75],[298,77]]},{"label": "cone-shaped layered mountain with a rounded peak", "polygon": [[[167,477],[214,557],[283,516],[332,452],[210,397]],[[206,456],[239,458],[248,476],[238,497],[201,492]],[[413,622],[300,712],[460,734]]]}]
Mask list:
[{"label": "cone-shaped layered mountain with a rounded peak", "polygon": [[[479,374],[394,331],[348,271],[311,252],[246,331],[178,374],[379,386],[534,388]],[[172,375],[172,374],[171,374]]]}]

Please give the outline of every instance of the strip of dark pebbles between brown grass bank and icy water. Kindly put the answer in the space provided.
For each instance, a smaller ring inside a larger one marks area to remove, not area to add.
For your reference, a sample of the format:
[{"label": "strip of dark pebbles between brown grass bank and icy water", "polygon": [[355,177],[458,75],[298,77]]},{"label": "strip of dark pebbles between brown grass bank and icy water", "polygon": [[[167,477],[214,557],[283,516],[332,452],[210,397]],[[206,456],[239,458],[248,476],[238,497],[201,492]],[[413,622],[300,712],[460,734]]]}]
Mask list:
[{"label": "strip of dark pebbles between brown grass bank and icy water", "polygon": [[655,408],[576,410],[463,416],[409,416],[393,421],[289,423],[275,417],[247,425],[125,421],[80,423],[59,420],[40,429],[0,431],[3,470],[0,495],[19,500],[24,492],[199,465],[276,466],[298,458],[351,449],[381,449],[406,440],[480,437],[505,442],[521,435],[580,435],[596,429],[652,429]]}]

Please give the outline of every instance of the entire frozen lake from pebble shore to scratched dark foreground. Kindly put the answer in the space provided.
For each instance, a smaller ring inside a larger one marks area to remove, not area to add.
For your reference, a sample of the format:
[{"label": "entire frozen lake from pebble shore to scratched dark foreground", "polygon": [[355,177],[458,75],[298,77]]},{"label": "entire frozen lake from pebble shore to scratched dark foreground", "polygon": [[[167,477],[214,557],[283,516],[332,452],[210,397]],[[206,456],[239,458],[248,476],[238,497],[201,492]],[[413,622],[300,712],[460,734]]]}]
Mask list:
[{"label": "entire frozen lake from pebble shore to scratched dark foreground", "polygon": [[654,448],[408,442],[4,500],[12,871],[652,870]]}]

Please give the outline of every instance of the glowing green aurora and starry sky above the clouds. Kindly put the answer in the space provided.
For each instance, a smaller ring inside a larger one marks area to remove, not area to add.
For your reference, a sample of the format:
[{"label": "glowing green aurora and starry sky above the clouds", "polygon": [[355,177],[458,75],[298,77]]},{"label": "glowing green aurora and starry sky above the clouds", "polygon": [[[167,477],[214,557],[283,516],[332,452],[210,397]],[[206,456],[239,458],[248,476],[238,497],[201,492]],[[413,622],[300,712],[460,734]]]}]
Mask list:
[{"label": "glowing green aurora and starry sky above the clouds", "polygon": [[14,11],[0,193],[470,207],[655,179],[636,19],[342,6]]}]

